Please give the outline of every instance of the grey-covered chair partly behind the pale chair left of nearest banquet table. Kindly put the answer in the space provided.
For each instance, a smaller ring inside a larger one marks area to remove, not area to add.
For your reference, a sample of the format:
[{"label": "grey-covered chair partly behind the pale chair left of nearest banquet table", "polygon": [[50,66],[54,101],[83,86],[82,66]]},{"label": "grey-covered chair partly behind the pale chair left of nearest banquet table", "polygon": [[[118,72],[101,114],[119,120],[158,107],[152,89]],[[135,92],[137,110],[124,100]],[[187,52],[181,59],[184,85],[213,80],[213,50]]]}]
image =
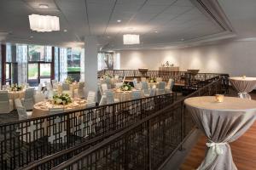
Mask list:
[{"label": "grey-covered chair partly behind the pale chair left of nearest banquet table", "polygon": [[34,106],[34,91],[35,88],[27,88],[25,91],[25,97],[21,99],[22,105],[26,108],[26,111],[30,111]]}]

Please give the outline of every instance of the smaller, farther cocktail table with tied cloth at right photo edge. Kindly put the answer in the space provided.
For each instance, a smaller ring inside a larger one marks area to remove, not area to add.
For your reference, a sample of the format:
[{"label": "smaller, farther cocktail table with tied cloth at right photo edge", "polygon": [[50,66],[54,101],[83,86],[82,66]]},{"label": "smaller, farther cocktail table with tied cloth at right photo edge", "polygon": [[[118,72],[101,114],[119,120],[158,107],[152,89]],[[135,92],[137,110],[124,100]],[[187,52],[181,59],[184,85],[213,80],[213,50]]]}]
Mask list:
[{"label": "smaller, farther cocktail table with tied cloth at right photo edge", "polygon": [[250,92],[256,88],[256,77],[230,77],[230,83],[236,91],[238,96],[243,99],[251,99]]}]

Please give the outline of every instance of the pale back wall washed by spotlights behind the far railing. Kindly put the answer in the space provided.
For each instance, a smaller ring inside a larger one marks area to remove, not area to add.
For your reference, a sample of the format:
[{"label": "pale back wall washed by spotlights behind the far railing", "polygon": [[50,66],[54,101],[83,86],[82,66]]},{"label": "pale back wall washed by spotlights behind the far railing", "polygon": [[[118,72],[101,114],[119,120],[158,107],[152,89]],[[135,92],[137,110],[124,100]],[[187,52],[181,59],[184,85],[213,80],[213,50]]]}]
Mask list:
[{"label": "pale back wall washed by spotlights behind the far railing", "polygon": [[223,42],[218,45],[176,50],[120,51],[121,69],[148,67],[158,70],[166,60],[181,71],[222,72],[230,76],[256,77],[256,42]]}]

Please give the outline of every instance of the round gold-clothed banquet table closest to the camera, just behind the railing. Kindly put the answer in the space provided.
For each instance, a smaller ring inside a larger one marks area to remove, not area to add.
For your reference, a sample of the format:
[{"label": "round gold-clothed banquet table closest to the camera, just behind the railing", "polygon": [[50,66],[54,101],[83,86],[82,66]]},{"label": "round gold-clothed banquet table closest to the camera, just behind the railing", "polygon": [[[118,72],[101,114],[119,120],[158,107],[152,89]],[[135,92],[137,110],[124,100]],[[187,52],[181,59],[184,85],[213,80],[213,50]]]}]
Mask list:
[{"label": "round gold-clothed banquet table closest to the camera, just behind the railing", "polygon": [[32,110],[32,118],[40,117],[40,116],[48,116],[49,108],[63,108],[63,107],[64,107],[64,112],[83,110],[86,107],[86,100],[76,99],[76,100],[73,100],[73,102],[68,105],[53,105],[49,100],[41,101],[34,105],[34,108]]}]

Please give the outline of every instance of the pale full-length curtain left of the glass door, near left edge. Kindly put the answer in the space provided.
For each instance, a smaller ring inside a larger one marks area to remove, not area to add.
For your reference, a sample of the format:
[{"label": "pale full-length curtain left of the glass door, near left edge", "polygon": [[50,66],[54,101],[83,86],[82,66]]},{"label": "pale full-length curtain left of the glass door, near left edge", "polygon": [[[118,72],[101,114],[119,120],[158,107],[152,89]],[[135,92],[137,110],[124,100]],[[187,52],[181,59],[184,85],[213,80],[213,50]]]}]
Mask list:
[{"label": "pale full-length curtain left of the glass door, near left edge", "polygon": [[27,82],[27,45],[17,44],[16,59],[18,63],[18,83]]}]

